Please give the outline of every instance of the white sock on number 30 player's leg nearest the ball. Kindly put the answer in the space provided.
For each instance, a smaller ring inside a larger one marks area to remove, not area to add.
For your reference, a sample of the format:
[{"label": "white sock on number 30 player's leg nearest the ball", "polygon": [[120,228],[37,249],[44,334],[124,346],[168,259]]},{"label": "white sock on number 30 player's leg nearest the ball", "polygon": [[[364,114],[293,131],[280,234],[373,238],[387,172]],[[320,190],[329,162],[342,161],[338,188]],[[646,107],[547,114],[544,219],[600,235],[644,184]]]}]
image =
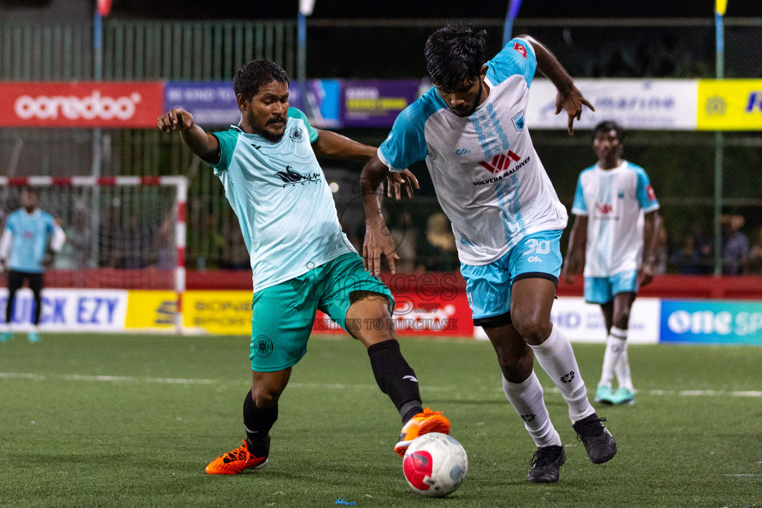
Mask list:
[{"label": "white sock on number 30 player's leg nearest the ball", "polygon": [[559,433],[550,421],[548,409],[543,400],[543,387],[537,375],[532,371],[529,379],[523,383],[507,382],[503,378],[505,397],[511,402],[524,422],[524,427],[537,446],[561,446]]}]

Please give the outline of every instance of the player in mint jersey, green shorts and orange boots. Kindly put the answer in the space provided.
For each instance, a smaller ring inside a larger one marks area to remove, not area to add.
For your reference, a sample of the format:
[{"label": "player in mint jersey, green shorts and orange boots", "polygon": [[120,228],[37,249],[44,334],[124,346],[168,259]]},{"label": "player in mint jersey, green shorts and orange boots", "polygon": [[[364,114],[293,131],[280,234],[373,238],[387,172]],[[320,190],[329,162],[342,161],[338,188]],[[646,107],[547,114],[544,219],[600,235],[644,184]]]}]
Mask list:
[{"label": "player in mint jersey, green shorts and orange boots", "polygon": [[293,365],[307,352],[317,309],[367,347],[376,382],[404,423],[395,452],[404,455],[419,434],[448,433],[447,418],[421,407],[418,379],[396,340],[392,294],[363,269],[341,232],[315,158],[367,161],[376,149],[313,128],[304,113],[289,107],[288,76],[274,62],[248,62],[235,73],[233,89],[241,121],[226,132],[205,133],[181,109],[158,119],[165,132],[180,131],[185,145],[223,182],[254,273],[252,382],[243,404],[246,439],[213,460],[207,473],[237,474],[267,465],[278,399]]}]

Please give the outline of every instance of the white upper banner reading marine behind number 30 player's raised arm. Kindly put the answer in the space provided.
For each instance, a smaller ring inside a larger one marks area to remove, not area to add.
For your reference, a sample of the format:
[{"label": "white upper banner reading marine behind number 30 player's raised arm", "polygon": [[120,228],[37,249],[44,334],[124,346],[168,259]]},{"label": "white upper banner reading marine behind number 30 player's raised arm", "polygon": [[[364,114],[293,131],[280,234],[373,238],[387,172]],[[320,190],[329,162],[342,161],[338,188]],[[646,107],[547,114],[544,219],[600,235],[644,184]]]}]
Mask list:
[{"label": "white upper banner reading marine behind number 30 player's raised arm", "polygon": [[[592,129],[616,120],[626,129],[696,130],[696,79],[575,79],[595,107],[583,107],[575,128]],[[547,79],[532,81],[525,118],[530,129],[566,129],[565,112],[555,114],[558,91]]]}]

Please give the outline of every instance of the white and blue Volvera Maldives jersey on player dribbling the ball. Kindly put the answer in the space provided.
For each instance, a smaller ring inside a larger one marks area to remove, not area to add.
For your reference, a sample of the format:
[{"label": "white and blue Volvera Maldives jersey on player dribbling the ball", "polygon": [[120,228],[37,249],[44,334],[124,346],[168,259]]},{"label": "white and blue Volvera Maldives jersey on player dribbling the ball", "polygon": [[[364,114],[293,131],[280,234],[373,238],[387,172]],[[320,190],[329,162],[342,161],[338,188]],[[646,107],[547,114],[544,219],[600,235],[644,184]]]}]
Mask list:
[{"label": "white and blue Volvera Maldives jersey on player dribbling the ball", "polygon": [[426,161],[469,265],[489,264],[525,236],[567,221],[524,123],[537,66],[532,46],[511,40],[486,65],[489,95],[470,117],[458,117],[431,88],[399,114],[378,152],[391,171]]}]

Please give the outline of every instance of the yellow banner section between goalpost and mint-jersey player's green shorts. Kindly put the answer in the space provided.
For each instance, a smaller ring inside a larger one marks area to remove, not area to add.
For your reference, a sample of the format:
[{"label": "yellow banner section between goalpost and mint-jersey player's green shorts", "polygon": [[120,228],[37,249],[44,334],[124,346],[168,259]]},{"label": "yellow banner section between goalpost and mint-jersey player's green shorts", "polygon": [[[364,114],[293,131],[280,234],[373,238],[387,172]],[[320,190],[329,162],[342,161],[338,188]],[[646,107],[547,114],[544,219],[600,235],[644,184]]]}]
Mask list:
[{"label": "yellow banner section between goalpost and mint-jersey player's green shorts", "polygon": [[210,334],[251,335],[251,291],[186,291],[183,321]]}]

